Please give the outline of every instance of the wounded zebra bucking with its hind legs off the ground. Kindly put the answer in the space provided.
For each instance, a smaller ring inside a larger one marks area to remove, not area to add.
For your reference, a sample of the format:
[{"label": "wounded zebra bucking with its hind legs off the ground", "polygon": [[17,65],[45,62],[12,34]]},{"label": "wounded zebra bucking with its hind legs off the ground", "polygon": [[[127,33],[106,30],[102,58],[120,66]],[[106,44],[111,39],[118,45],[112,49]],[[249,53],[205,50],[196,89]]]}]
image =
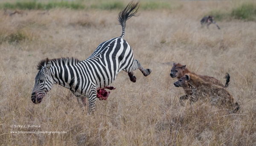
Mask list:
[{"label": "wounded zebra bucking with its hind legs off the ground", "polygon": [[138,2],[130,2],[120,11],[118,21],[122,26],[122,35],[99,44],[86,60],[79,61],[73,57],[41,60],[37,65],[38,74],[31,95],[32,102],[41,103],[53,84],[59,84],[70,89],[81,107],[85,107],[87,97],[90,115],[94,112],[97,94],[105,89],[113,89],[108,85],[116,79],[119,72],[127,72],[134,83],[134,70],[140,69],[144,76],[148,76],[151,69],[144,69],[138,60],[134,60],[131,46],[123,39],[126,20],[135,16],[138,8]]}]

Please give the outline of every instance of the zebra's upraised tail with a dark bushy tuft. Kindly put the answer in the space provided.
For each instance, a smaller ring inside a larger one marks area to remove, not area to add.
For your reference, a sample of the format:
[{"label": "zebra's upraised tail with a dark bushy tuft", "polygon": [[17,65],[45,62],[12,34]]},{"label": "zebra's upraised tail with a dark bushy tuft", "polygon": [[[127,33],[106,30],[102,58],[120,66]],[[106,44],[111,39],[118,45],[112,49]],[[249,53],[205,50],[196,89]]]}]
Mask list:
[{"label": "zebra's upraised tail with a dark bushy tuft", "polygon": [[119,21],[119,24],[122,26],[122,35],[121,35],[122,38],[124,38],[125,36],[126,20],[130,19],[132,16],[135,16],[139,7],[140,7],[139,2],[134,3],[133,1],[131,1],[126,6],[126,8],[120,11],[120,13],[118,14],[118,21]]}]

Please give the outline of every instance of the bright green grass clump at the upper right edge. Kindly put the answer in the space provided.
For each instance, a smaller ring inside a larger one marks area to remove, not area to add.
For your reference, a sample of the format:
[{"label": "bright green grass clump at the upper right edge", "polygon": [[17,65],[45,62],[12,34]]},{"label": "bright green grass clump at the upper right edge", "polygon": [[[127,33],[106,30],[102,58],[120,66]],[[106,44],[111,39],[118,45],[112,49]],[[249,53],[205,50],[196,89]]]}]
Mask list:
[{"label": "bright green grass clump at the upper right edge", "polygon": [[243,3],[241,6],[232,9],[231,16],[235,19],[255,20],[256,5],[254,3]]}]

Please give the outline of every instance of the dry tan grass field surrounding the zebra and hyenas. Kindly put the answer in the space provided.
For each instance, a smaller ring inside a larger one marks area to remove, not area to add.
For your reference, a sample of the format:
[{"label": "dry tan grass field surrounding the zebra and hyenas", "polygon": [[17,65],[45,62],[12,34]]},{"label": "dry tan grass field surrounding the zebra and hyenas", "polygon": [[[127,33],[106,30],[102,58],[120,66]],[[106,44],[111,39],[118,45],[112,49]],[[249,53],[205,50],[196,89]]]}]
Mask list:
[{"label": "dry tan grass field surrounding the zebra and hyenas", "polygon": [[[0,146],[255,146],[256,21],[224,19],[217,21],[220,30],[213,24],[201,28],[209,11],[230,11],[241,1],[169,3],[172,9],[139,9],[126,23],[124,39],[152,73],[144,77],[136,70],[132,83],[120,72],[111,84],[116,89],[108,100],[96,100],[90,116],[58,85],[40,104],[32,103],[36,65],[46,57],[87,59],[100,43],[121,35],[120,9],[55,8],[12,16],[0,10]],[[223,83],[228,72],[228,90],[241,109],[230,114],[207,100],[181,106],[183,89],[169,75],[174,62]],[[33,130],[67,133],[11,134]]]}]

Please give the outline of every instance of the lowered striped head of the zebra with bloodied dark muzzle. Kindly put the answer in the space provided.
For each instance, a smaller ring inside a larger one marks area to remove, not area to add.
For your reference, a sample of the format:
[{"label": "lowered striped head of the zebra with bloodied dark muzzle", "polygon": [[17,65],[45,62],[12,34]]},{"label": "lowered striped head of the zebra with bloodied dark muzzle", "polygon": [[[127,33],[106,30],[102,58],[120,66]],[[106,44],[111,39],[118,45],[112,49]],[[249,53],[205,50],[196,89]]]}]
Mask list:
[{"label": "lowered striped head of the zebra with bloodied dark muzzle", "polygon": [[33,103],[41,103],[43,97],[52,89],[53,81],[50,75],[52,63],[47,58],[38,63],[38,74],[35,76],[35,86],[32,91],[31,100]]}]

